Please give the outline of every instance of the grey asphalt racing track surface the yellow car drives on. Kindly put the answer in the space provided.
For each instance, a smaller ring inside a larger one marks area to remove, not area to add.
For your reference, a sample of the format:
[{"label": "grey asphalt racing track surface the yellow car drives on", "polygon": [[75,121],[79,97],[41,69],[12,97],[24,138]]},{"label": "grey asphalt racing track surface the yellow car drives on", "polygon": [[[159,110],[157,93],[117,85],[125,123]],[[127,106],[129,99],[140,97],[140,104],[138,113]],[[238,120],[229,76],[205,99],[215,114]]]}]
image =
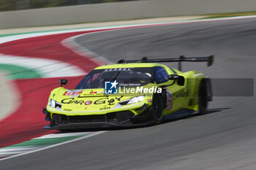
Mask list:
[{"label": "grey asphalt racing track surface the yellow car drives on", "polygon": [[[214,78],[256,77],[256,19],[129,28],[88,34],[76,41],[113,62],[124,58],[124,47],[131,59],[214,54],[214,66],[184,63],[184,71],[197,69]],[[255,97],[214,97],[207,115],[108,131],[0,161],[0,169],[252,170],[256,169],[255,107]]]}]

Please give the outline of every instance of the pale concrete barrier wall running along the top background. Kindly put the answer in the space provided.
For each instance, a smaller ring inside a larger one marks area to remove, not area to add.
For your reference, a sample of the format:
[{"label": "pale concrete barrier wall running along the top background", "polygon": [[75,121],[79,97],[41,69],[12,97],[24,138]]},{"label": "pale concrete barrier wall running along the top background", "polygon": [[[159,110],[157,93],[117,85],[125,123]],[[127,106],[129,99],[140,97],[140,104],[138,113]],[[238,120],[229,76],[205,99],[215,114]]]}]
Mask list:
[{"label": "pale concrete barrier wall running along the top background", "polygon": [[256,11],[255,0],[145,0],[0,12],[0,28]]}]

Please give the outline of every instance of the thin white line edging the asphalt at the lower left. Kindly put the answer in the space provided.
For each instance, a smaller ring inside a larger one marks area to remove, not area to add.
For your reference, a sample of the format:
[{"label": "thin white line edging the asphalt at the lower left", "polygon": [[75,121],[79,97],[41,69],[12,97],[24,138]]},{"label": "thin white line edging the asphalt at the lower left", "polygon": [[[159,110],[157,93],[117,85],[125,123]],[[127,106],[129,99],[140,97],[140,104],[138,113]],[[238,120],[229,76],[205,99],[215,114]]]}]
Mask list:
[{"label": "thin white line edging the asphalt at the lower left", "polygon": [[13,156],[10,156],[10,157],[7,157],[7,158],[2,158],[2,159],[0,159],[0,161],[4,161],[4,160],[10,159],[10,158],[15,158],[15,157],[22,156],[22,155],[28,155],[28,154],[30,154],[30,153],[39,152],[39,151],[41,151],[41,150],[47,150],[47,149],[52,148],[52,147],[57,147],[57,146],[60,146],[60,145],[62,145],[62,144],[72,143],[72,142],[75,142],[75,141],[79,141],[79,140],[82,140],[82,139],[89,138],[89,137],[91,137],[91,136],[96,136],[96,135],[98,135],[98,134],[103,134],[103,133],[105,133],[105,132],[106,132],[106,131],[98,131],[98,132],[95,132],[94,134],[89,134],[88,136],[83,136],[83,137],[80,137],[80,138],[77,138],[77,139],[72,139],[72,140],[69,140],[69,141],[67,141],[67,142],[61,142],[61,143],[59,143],[59,144],[53,144],[53,145],[50,145],[50,146],[48,146],[48,147],[42,147],[42,148],[40,148],[40,149],[38,149],[38,150],[31,150],[31,151],[29,151],[29,152],[23,152],[23,153],[18,154],[18,155],[13,155]]}]

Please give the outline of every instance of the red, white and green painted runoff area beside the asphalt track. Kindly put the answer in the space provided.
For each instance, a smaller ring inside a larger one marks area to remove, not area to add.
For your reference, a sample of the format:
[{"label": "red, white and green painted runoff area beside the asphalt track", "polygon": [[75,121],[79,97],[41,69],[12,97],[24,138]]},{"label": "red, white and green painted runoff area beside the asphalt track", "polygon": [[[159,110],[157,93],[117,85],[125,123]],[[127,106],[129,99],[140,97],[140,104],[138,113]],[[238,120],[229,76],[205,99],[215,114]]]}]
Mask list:
[{"label": "red, white and green painted runoff area beside the asphalt track", "polygon": [[91,51],[79,47],[73,41],[75,37],[82,34],[125,28],[246,18],[256,18],[256,16],[77,28],[1,36],[0,69],[9,73],[9,79],[18,89],[21,100],[19,101],[20,107],[0,122],[2,129],[0,161],[105,133],[105,131],[59,133],[58,131],[42,129],[46,125],[42,108],[47,104],[50,90],[59,85],[60,77],[68,78],[70,81],[67,88],[72,88],[95,67],[110,63],[106,58],[94,55]]}]

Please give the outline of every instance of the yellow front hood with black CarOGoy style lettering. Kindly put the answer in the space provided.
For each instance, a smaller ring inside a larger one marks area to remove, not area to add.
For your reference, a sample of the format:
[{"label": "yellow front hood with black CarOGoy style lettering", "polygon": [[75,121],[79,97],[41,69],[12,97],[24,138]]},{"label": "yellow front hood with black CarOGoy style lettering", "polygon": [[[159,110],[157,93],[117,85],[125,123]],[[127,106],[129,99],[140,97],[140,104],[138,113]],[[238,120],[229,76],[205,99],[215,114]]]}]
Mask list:
[{"label": "yellow front hood with black CarOGoy style lettering", "polygon": [[[50,94],[49,101],[50,99],[56,101],[59,108],[56,107],[51,109],[56,109],[60,112],[95,112],[95,114],[97,114],[97,112],[109,109],[124,110],[141,107],[143,104],[151,102],[153,96],[152,93],[118,93],[109,95],[105,94],[104,90],[104,88],[85,90],[56,88]],[[143,101],[135,104],[120,104],[120,102],[127,101],[129,98],[135,96],[144,96]],[[49,108],[48,105],[48,109]]]}]

